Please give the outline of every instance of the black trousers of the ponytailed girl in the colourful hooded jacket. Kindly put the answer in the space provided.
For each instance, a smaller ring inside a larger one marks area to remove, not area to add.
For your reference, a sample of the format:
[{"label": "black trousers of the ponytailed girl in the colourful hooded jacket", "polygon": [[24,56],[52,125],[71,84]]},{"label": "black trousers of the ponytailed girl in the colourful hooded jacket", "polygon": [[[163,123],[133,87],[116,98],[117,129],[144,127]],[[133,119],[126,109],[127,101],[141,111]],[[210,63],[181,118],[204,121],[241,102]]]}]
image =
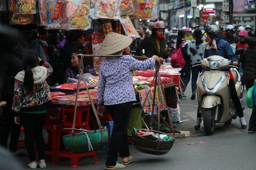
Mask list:
[{"label": "black trousers of the ponytailed girl in the colourful hooded jacket", "polygon": [[44,113],[21,113],[20,121],[24,127],[25,147],[30,161],[36,160],[35,145],[39,160],[45,159],[45,142],[43,138]]}]

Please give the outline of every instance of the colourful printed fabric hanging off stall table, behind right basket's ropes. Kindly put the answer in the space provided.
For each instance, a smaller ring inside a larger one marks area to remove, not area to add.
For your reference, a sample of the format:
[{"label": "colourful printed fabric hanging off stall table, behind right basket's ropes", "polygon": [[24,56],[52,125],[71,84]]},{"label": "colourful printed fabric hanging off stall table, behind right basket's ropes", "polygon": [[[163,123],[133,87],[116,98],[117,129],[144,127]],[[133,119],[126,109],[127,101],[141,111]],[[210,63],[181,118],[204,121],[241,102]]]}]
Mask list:
[{"label": "colourful printed fabric hanging off stall table, behind right basket's ropes", "polygon": [[[140,98],[140,103],[141,105],[143,105],[145,99],[146,99],[146,96],[147,96],[147,93],[148,93],[148,89],[142,89],[142,90],[139,90],[139,98]],[[148,98],[146,99],[146,104],[145,104],[145,107],[143,108],[143,111],[145,113],[149,113],[151,115],[152,113],[152,105],[153,105],[153,95],[154,95],[154,87],[152,87],[150,89],[150,94],[148,95]],[[157,103],[160,102],[160,112],[162,111],[165,111],[167,110],[167,107],[166,107],[166,102],[165,102],[165,99],[163,97],[163,92],[162,92],[162,88],[160,87],[160,94],[159,94],[159,97],[158,97],[158,90],[156,91],[156,98],[155,98],[155,107],[154,107],[154,114],[157,114]]]}]

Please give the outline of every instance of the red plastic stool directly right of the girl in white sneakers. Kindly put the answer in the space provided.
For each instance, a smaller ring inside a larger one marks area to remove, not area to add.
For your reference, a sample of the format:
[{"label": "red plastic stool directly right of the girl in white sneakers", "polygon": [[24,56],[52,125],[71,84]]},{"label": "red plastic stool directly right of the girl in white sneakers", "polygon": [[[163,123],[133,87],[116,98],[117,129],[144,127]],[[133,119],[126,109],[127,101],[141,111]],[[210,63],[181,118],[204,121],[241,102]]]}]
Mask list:
[{"label": "red plastic stool directly right of the girl in white sneakers", "polygon": [[58,129],[59,129],[60,125],[61,124],[44,124],[44,127],[43,127],[43,129],[47,130],[47,132],[49,134],[48,135],[49,140],[48,140],[48,145],[45,148],[45,154],[52,156],[52,164],[54,164],[54,165],[58,165],[58,164],[56,164],[56,153],[57,153],[57,150],[56,150],[57,138],[56,138],[56,136],[57,136]]}]

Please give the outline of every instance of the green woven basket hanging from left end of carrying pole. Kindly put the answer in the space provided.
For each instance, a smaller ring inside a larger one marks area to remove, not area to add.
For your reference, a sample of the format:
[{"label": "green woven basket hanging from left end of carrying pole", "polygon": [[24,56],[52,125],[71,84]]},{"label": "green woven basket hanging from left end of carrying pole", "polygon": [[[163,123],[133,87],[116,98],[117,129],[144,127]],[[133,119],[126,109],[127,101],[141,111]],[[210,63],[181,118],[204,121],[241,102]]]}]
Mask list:
[{"label": "green woven basket hanging from left end of carrying pole", "polygon": [[[93,150],[97,150],[108,142],[109,133],[108,129],[104,128],[103,131],[103,142],[101,130],[79,132],[70,135],[62,136],[63,142],[67,150],[75,153],[90,152],[88,145],[88,138],[90,140]],[[87,135],[86,135],[87,134]],[[87,138],[88,136],[88,138]]]}]

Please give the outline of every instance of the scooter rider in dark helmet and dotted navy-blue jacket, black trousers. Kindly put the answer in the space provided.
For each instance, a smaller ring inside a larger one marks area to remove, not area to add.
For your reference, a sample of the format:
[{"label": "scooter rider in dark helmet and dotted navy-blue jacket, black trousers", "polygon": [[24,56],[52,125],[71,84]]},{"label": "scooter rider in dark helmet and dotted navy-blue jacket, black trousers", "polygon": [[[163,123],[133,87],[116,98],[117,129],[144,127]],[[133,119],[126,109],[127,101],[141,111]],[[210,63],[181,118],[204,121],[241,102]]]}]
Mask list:
[{"label": "scooter rider in dark helmet and dotted navy-blue jacket, black trousers", "polygon": [[[211,26],[207,25],[204,27],[204,31],[211,38],[210,41],[207,43],[207,46],[205,47],[204,58],[207,58],[212,55],[219,55],[219,56],[222,56],[224,58],[231,60],[232,64],[234,66],[237,66],[237,64],[238,64],[237,58],[234,55],[233,50],[231,49],[229,43],[226,40],[221,39],[221,37],[220,37],[221,29],[219,29],[217,26],[214,26],[214,25],[211,25]],[[244,120],[243,109],[242,109],[239,97],[237,96],[236,87],[234,84],[234,77],[233,77],[230,69],[228,69],[228,73],[230,75],[230,77],[229,77],[230,96],[234,103],[234,106],[237,109],[237,113],[240,118],[241,128],[246,129],[247,125]],[[197,112],[197,121],[195,124],[195,130],[200,128],[201,121],[202,121],[201,114],[198,111]]]}]

